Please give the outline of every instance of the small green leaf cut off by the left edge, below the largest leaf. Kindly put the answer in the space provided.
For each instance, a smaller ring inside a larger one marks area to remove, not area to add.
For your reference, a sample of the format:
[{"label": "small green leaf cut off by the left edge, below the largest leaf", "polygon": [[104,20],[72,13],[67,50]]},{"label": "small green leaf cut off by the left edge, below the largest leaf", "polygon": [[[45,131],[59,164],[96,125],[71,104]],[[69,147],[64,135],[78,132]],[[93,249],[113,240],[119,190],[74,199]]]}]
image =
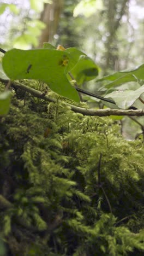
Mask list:
[{"label": "small green leaf cut off by the left edge, below the largest leaf", "polygon": [[0,94],[0,115],[6,115],[9,112],[10,91],[4,91]]}]

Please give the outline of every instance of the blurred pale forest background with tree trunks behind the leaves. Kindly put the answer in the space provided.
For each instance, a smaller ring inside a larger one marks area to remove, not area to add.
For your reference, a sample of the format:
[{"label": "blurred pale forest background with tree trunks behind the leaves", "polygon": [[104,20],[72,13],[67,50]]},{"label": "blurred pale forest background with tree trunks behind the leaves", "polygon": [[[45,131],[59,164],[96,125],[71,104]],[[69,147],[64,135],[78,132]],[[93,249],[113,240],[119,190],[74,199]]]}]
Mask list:
[{"label": "blurred pale forest background with tree trunks behind the leaves", "polygon": [[[0,14],[0,46],[5,50],[42,48],[43,42],[76,47],[100,66],[100,77],[143,63],[143,0],[1,0]],[[97,92],[103,84],[83,87]],[[91,107],[103,108],[103,103],[91,101]],[[144,125],[142,118],[137,120]],[[126,117],[122,123],[125,138],[141,132],[134,120]]]}]

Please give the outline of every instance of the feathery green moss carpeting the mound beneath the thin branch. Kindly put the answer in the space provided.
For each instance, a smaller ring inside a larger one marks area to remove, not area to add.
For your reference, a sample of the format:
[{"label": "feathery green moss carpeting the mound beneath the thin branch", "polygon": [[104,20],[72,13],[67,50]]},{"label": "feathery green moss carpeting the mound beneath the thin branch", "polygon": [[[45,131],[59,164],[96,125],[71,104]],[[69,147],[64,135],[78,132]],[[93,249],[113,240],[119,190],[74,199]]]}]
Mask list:
[{"label": "feathery green moss carpeting the mound beneath the thin branch", "polygon": [[0,200],[1,236],[10,252],[143,252],[143,144],[124,141],[110,118],[13,94],[0,137],[0,193],[11,203]]}]

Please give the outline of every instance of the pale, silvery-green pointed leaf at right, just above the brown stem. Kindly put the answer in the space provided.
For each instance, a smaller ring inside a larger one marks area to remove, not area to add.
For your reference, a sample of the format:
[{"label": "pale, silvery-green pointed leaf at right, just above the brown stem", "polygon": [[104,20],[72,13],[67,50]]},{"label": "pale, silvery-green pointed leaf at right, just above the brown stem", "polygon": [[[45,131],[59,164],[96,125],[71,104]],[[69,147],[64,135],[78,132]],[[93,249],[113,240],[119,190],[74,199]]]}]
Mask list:
[{"label": "pale, silvery-green pointed leaf at right, just above the brown stem", "polygon": [[128,109],[130,106],[134,104],[137,98],[139,98],[140,95],[143,94],[143,92],[144,85],[135,91],[113,91],[111,92],[111,94],[107,94],[105,98],[112,98],[119,108]]}]

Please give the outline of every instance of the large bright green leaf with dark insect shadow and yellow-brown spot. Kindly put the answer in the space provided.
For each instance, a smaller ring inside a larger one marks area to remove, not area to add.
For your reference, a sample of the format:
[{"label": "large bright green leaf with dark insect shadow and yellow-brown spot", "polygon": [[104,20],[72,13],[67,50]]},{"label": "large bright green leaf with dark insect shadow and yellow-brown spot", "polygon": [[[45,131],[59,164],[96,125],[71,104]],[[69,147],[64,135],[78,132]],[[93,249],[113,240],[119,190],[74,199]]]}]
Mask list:
[{"label": "large bright green leaf with dark insect shadow and yellow-brown spot", "polygon": [[79,95],[65,74],[70,55],[53,49],[7,51],[3,57],[3,69],[11,80],[39,79],[57,94],[79,102]]}]

